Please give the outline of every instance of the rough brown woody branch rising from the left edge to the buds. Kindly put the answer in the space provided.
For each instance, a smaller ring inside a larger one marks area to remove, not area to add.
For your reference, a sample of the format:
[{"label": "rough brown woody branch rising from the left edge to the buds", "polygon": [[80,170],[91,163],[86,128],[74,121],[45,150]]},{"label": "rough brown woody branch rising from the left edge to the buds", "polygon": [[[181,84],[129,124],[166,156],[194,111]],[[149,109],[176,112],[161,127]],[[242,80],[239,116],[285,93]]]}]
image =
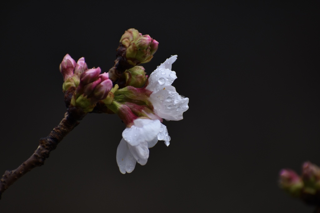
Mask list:
[{"label": "rough brown woody branch rising from the left edge to the buds", "polygon": [[[76,116],[70,116],[70,114],[75,114]],[[84,114],[76,111],[75,108],[68,108],[68,112],[65,113],[60,124],[56,126],[47,137],[40,138],[38,148],[29,159],[23,162],[17,169],[4,172],[4,175],[0,179],[0,199],[2,193],[16,180],[33,168],[42,166],[45,159],[49,157],[50,152],[54,150],[58,143],[79,124],[78,121],[83,117]]]}]

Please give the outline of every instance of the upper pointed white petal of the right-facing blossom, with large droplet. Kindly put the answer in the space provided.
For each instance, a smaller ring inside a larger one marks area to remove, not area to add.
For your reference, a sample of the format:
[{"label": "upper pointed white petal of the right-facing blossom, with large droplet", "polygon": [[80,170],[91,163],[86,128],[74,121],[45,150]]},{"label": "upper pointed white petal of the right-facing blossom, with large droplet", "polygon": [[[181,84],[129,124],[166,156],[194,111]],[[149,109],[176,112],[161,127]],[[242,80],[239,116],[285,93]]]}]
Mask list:
[{"label": "upper pointed white petal of the right-facing blossom, with large droplet", "polygon": [[176,72],[171,71],[172,63],[177,59],[177,55],[167,59],[158,66],[148,78],[147,90],[157,92],[168,85],[171,85],[177,78]]}]

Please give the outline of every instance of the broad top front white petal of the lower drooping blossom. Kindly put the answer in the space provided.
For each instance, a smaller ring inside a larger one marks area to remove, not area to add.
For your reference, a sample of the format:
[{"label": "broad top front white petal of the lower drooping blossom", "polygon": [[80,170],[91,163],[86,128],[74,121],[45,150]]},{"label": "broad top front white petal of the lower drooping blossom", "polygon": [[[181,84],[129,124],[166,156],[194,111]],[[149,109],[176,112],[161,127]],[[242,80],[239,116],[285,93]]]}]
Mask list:
[{"label": "broad top front white petal of the lower drooping blossom", "polygon": [[160,130],[159,120],[136,119],[130,128],[122,132],[122,137],[131,146],[153,140]]}]

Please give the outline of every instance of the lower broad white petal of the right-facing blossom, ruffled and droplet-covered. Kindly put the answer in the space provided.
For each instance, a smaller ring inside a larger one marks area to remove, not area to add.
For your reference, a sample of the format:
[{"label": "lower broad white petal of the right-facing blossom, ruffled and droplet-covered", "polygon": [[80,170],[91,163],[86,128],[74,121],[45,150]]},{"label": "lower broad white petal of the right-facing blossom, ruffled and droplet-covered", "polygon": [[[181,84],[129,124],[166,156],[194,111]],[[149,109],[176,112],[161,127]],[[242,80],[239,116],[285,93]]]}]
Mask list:
[{"label": "lower broad white petal of the right-facing blossom, ruffled and droplet-covered", "polygon": [[187,111],[189,99],[183,98],[176,92],[173,86],[167,86],[150,95],[155,114],[168,121],[179,121],[183,119],[183,112]]}]

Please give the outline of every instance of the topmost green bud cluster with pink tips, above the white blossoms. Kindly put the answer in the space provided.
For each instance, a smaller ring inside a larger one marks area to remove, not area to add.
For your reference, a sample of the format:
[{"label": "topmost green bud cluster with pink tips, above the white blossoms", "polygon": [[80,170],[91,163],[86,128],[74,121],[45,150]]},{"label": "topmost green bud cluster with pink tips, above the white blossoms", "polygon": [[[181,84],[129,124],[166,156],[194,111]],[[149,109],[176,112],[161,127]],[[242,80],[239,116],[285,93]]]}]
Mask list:
[{"label": "topmost green bud cluster with pink tips, above the white blossoms", "polygon": [[132,66],[149,62],[157,51],[158,44],[150,35],[142,35],[134,28],[126,30],[120,39],[120,45],[126,49],[125,57]]}]

